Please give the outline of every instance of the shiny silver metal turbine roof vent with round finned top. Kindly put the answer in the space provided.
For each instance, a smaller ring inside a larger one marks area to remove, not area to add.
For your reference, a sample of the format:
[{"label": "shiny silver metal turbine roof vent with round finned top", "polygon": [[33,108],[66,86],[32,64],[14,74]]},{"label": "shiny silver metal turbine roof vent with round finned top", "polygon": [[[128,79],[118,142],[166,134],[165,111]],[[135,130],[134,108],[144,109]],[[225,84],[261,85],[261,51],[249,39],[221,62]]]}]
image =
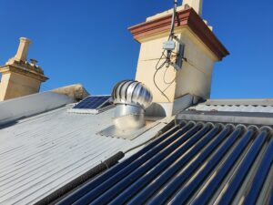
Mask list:
[{"label": "shiny silver metal turbine roof vent with round finned top", "polygon": [[144,84],[123,80],[114,87],[112,97],[116,105],[116,128],[125,130],[145,126],[145,109],[152,103],[153,96]]}]

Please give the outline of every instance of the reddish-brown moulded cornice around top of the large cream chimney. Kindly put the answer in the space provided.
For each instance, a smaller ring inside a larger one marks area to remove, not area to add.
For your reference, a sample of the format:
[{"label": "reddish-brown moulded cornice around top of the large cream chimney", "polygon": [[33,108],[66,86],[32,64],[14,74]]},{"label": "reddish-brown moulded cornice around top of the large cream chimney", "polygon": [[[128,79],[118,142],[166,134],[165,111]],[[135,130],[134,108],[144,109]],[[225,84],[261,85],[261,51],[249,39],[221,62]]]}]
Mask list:
[{"label": "reddish-brown moulded cornice around top of the large cream chimney", "polygon": [[[136,26],[128,27],[128,30],[139,41],[144,36],[152,36],[159,32],[166,32],[171,25],[171,14],[164,15]],[[195,35],[217,56],[219,60],[229,55],[227,48],[218,40],[217,36],[209,29],[203,19],[193,8],[177,11],[176,27],[188,26]]]}]

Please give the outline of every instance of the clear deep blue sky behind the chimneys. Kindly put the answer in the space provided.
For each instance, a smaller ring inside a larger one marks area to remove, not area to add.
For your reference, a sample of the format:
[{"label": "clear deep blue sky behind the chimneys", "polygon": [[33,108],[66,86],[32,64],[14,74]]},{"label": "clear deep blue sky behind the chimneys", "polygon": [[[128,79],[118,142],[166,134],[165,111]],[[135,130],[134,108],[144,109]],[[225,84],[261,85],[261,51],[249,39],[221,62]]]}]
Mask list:
[{"label": "clear deep blue sky behind the chimneys", "polygon": [[[43,90],[82,83],[91,94],[109,94],[118,80],[135,77],[139,44],[127,27],[172,2],[1,0],[0,64],[26,36],[34,42],[28,57],[50,77]],[[203,18],[231,54],[215,65],[212,98],[273,97],[273,3],[258,3],[204,1]]]}]

